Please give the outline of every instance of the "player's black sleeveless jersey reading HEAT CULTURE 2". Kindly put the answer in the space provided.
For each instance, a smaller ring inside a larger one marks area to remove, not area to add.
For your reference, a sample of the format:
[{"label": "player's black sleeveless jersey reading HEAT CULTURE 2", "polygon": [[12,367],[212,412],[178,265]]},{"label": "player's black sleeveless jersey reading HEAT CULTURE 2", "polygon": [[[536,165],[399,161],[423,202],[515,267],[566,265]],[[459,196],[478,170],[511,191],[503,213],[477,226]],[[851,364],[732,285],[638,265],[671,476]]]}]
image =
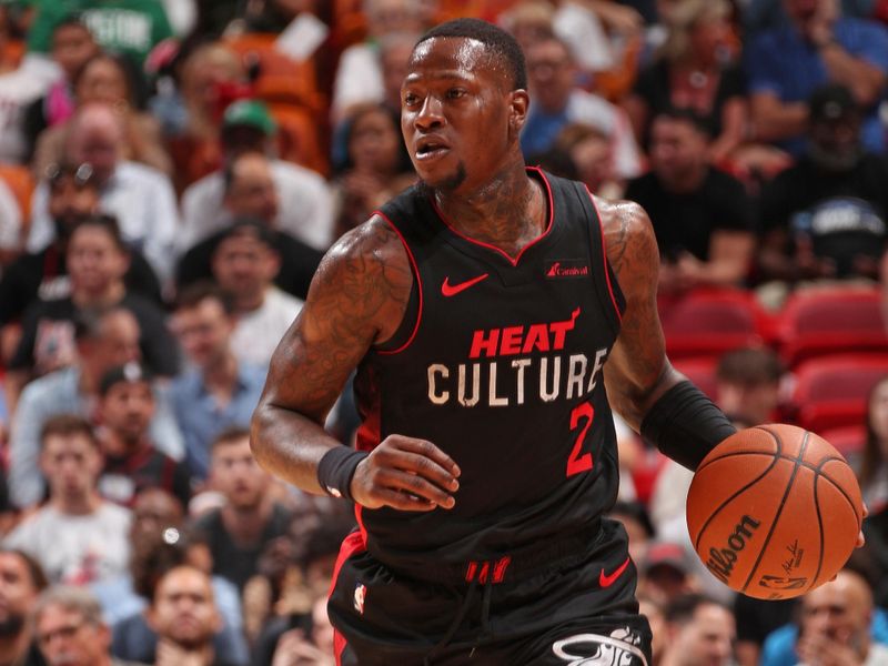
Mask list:
[{"label": "player's black sleeveless jersey reading HEAT CULTURE 2", "polygon": [[461,235],[418,186],[381,211],[407,250],[416,306],[397,349],[359,367],[357,445],[421,437],[462,470],[453,509],[359,507],[369,551],[390,565],[495,557],[594,528],[616,500],[602,366],[622,295],[585,186],[528,174],[548,224],[517,258]]}]

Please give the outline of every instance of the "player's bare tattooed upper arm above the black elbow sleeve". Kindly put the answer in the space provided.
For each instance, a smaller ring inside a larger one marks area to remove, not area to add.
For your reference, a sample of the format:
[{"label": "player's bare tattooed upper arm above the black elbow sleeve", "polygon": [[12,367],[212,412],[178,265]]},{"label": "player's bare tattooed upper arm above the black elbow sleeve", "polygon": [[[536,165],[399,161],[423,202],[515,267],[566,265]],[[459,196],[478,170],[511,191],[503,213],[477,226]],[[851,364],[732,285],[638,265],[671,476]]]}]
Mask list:
[{"label": "player's bare tattooed upper arm above the black elbow sleeve", "polygon": [[623,325],[604,367],[614,410],[638,431],[659,396],[685,377],[669,364],[657,313],[659,252],[647,213],[628,201],[596,199],[607,261],[626,297]]}]

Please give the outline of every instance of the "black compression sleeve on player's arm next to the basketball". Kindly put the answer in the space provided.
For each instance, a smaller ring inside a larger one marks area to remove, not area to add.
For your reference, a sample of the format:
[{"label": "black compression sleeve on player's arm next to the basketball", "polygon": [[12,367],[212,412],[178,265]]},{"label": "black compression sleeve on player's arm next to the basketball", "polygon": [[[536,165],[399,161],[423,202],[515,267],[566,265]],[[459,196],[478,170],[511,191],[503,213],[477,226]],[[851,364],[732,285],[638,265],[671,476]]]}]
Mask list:
[{"label": "black compression sleeve on player's arm next to the basketball", "polygon": [[690,382],[669,389],[642,421],[645,441],[690,471],[736,432],[722,410]]}]

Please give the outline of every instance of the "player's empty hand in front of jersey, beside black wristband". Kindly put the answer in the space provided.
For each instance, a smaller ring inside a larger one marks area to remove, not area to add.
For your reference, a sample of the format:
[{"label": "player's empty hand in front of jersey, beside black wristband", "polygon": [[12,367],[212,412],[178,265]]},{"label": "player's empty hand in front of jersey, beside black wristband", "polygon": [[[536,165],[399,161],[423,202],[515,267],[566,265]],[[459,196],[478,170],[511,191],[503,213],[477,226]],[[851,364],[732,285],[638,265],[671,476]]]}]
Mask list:
[{"label": "player's empty hand in front of jersey, beside black wristband", "polygon": [[352,497],[367,508],[453,508],[460,467],[425,440],[390,435],[357,465]]}]

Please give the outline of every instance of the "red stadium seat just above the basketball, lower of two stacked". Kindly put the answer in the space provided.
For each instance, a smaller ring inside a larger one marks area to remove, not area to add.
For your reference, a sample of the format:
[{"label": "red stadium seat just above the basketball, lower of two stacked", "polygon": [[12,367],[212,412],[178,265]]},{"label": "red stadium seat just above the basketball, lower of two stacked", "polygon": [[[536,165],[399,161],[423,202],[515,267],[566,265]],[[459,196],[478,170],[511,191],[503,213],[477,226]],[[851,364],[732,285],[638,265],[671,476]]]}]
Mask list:
[{"label": "red stadium seat just above the basketball, lower of two stacked", "polygon": [[820,433],[860,425],[872,386],[888,376],[888,353],[811,359],[796,369],[791,403],[796,422]]}]

